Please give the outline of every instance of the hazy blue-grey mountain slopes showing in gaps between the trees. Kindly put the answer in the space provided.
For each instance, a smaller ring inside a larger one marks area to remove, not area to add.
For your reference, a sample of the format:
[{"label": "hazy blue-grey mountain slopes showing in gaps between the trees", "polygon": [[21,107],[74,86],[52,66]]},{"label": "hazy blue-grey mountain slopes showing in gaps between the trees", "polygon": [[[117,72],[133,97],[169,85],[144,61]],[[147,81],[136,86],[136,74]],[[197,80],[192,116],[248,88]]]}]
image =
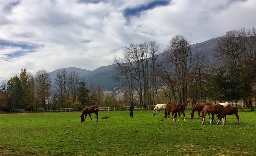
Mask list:
[{"label": "hazy blue-grey mountain slopes showing in gaps between the trees", "polygon": [[[219,37],[191,45],[192,54],[195,54],[197,51],[203,50],[203,52],[207,54],[208,59],[212,61],[214,46],[216,45],[218,39]],[[161,53],[160,57],[162,57],[164,53],[165,52]],[[118,90],[121,86],[120,82],[113,79],[113,77],[117,74],[114,66],[114,64],[108,66],[101,66],[92,71],[74,67],[63,69],[66,69],[67,72],[78,72],[81,77],[85,77],[85,82],[94,82],[95,84],[100,84],[102,89],[105,91],[113,91]],[[52,86],[55,82],[54,78],[56,74],[58,73],[58,71],[61,71],[63,69],[57,69],[49,73],[52,79]]]}]

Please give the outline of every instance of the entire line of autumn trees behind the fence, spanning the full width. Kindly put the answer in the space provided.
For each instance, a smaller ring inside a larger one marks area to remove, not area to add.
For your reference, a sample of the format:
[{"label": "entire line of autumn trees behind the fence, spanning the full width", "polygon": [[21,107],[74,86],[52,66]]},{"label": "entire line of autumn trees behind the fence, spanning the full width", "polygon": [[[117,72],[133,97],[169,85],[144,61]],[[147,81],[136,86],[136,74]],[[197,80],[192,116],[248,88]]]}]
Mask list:
[{"label": "entire line of autumn trees behind the fence, spanning the full width", "polygon": [[214,47],[210,61],[204,49],[191,52],[191,42],[175,35],[163,53],[156,41],[124,47],[123,58],[114,57],[121,82],[115,93],[85,82],[76,72],[59,71],[54,83],[46,70],[33,75],[25,69],[20,77],[0,85],[0,109],[71,108],[88,105],[155,105],[169,100],[192,104],[248,102],[256,95],[256,30],[226,32]]}]

